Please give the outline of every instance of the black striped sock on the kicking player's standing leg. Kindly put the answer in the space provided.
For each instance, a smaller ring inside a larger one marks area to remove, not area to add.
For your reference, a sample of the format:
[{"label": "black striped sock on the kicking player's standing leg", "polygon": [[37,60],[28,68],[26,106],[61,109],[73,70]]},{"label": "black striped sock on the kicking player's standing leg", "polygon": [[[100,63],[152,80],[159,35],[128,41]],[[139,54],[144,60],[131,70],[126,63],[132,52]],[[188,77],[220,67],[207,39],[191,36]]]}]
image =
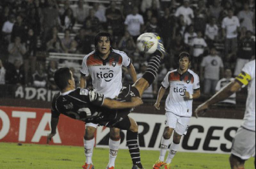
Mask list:
[{"label": "black striped sock on the kicking player's standing leg", "polygon": [[126,142],[129,148],[129,152],[132,158],[132,164],[137,165],[139,168],[143,168],[140,162],[140,148],[138,144],[138,132],[132,132],[127,130]]}]

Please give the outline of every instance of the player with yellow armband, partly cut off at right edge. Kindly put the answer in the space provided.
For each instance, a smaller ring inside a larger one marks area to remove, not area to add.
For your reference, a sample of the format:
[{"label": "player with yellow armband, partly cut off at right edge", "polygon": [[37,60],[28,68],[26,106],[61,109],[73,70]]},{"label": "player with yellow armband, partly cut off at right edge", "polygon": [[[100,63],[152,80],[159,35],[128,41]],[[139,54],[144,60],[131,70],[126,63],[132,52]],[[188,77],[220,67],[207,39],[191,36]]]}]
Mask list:
[{"label": "player with yellow armband, partly cut off at right edge", "polygon": [[244,169],[244,162],[252,156],[255,158],[255,59],[244,65],[242,72],[233,82],[223,87],[195,110],[197,117],[200,112],[210,105],[222,101],[234,92],[239,91],[243,85],[248,85],[248,96],[243,124],[237,130],[232,143],[229,158],[231,169]]}]

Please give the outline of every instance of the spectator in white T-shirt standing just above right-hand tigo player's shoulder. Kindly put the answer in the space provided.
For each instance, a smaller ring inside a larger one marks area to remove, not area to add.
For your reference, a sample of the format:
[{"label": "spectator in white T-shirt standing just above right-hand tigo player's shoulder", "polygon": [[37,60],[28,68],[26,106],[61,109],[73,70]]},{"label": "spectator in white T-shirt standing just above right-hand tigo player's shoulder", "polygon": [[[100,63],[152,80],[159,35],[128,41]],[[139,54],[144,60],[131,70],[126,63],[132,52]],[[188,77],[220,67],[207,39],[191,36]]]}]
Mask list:
[{"label": "spectator in white T-shirt standing just above right-hand tigo player's shoulder", "polygon": [[194,72],[198,71],[198,64],[201,63],[202,57],[204,54],[205,49],[207,48],[207,44],[202,37],[202,32],[197,31],[197,37],[193,38],[191,41],[191,54],[192,54],[192,63]]}]

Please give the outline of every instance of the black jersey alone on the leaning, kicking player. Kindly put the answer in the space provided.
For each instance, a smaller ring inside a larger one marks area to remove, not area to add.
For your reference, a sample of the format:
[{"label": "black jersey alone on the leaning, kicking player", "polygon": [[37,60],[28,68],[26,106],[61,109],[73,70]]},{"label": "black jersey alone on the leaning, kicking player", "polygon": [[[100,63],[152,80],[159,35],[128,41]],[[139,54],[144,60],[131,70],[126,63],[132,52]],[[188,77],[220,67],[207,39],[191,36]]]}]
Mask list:
[{"label": "black jersey alone on the leaning, kicking player", "polygon": [[103,101],[103,94],[88,89],[77,88],[58,93],[52,101],[52,117],[57,118],[64,114],[85,122],[112,120],[116,116],[116,110],[101,107]]}]

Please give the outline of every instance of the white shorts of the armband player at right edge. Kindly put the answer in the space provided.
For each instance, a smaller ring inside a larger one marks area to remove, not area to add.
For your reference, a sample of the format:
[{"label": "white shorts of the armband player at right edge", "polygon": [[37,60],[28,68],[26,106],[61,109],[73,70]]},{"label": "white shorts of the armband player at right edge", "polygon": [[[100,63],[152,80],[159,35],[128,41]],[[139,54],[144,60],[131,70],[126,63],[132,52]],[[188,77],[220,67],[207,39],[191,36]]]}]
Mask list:
[{"label": "white shorts of the armband player at right edge", "polygon": [[255,156],[255,132],[240,127],[233,139],[231,154],[243,160]]}]

